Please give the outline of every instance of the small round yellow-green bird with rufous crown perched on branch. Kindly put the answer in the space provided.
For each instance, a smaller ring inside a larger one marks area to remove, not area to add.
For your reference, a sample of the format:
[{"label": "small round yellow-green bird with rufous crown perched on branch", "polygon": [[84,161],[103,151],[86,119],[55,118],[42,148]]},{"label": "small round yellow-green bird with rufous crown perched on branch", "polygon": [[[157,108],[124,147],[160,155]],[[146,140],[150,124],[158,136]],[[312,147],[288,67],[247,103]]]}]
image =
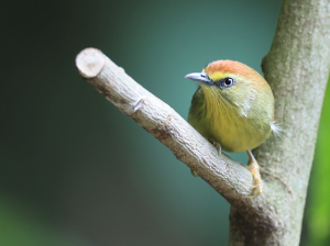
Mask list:
[{"label": "small round yellow-green bird with rufous crown perched on branch", "polygon": [[[188,122],[219,150],[246,152],[254,178],[252,198],[262,193],[260,166],[251,149],[273,132],[280,133],[274,120],[274,96],[266,80],[251,67],[233,60],[210,63],[201,72],[185,78],[199,82]],[[193,172],[194,174],[194,172]]]}]

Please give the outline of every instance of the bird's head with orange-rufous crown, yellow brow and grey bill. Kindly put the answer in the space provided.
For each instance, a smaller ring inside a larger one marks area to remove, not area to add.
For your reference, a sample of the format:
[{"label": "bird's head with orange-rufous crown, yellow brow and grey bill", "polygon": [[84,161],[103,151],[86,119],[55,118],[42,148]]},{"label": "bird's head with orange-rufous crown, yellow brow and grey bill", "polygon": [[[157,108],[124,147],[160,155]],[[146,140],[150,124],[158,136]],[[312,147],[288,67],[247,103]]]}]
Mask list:
[{"label": "bird's head with orange-rufous crown, yellow brow and grey bill", "polygon": [[217,60],[210,63],[201,72],[188,74],[185,78],[199,82],[206,100],[241,107],[243,114],[255,103],[257,107],[263,101],[274,102],[266,80],[257,71],[239,62]]}]

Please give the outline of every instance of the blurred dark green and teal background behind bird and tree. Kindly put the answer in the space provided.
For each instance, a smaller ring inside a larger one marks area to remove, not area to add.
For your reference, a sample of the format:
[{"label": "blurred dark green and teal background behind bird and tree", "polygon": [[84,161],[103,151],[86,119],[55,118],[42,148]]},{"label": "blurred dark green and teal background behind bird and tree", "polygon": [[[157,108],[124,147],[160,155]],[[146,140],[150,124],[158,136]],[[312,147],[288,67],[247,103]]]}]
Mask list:
[{"label": "blurred dark green and teal background behind bird and tree", "polygon": [[[279,5],[3,2],[0,245],[227,245],[227,201],[82,80],[75,57],[98,47],[187,119],[197,85],[184,76],[216,59],[261,71]],[[329,124],[326,104],[301,245],[330,244]]]}]

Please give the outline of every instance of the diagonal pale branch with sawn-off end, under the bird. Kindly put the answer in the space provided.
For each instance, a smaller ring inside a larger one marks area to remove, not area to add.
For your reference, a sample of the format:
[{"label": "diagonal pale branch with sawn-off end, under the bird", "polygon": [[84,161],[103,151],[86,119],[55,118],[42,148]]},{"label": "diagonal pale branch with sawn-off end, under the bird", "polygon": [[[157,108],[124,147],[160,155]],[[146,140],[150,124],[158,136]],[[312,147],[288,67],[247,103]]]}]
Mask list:
[{"label": "diagonal pale branch with sawn-off end, under the bird", "polygon": [[[250,199],[252,176],[242,165],[218,150],[165,102],[145,90],[107,56],[96,48],[86,48],[76,58],[76,66],[110,102],[166,145],[170,152],[196,171],[233,206],[251,215],[265,213],[263,195]],[[264,211],[264,212],[263,212]],[[272,213],[272,212],[271,212]],[[273,217],[274,219],[274,217]]]}]

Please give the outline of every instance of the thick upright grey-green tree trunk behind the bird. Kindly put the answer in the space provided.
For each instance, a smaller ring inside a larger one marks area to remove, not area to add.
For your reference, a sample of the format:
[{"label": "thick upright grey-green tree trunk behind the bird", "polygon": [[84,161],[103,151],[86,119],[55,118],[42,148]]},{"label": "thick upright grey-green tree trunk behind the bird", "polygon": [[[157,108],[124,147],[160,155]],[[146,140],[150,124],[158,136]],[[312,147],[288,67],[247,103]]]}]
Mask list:
[{"label": "thick upright grey-green tree trunk behind the bird", "polygon": [[[229,245],[299,245],[309,174],[330,67],[328,0],[284,0],[262,68],[275,96],[284,137],[253,153],[267,190],[262,197],[274,223],[231,208]],[[262,35],[262,34],[261,34]]]}]

